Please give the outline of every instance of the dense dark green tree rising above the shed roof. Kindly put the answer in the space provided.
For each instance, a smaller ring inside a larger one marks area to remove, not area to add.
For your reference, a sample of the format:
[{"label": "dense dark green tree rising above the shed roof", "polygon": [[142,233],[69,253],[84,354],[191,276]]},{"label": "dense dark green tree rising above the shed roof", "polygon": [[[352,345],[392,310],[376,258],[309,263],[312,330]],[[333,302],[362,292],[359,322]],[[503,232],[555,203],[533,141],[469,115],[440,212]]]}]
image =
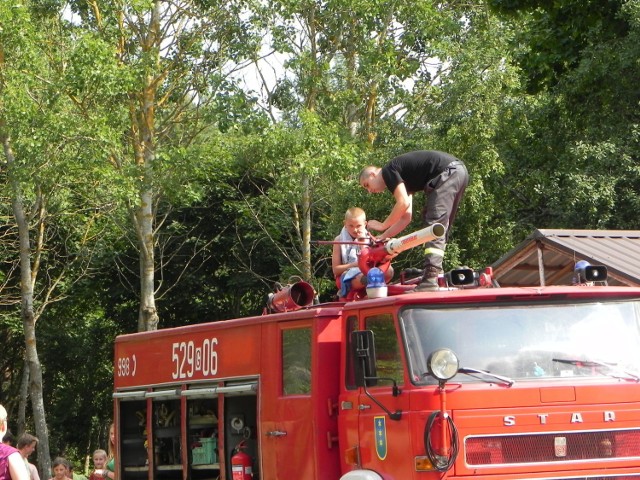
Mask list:
[{"label": "dense dark green tree rising above the shed roof", "polygon": [[503,130],[505,210],[522,229],[635,228],[637,2],[492,3],[518,32],[528,93]]}]

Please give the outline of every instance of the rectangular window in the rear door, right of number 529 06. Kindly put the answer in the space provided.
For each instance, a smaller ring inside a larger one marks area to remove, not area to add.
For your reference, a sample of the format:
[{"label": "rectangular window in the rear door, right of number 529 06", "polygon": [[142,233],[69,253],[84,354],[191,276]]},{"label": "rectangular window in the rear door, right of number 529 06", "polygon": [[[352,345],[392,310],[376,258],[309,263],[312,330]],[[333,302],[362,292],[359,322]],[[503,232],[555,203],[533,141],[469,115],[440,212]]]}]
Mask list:
[{"label": "rectangular window in the rear door, right of number 529 06", "polygon": [[311,327],[282,331],[282,393],[311,393]]}]

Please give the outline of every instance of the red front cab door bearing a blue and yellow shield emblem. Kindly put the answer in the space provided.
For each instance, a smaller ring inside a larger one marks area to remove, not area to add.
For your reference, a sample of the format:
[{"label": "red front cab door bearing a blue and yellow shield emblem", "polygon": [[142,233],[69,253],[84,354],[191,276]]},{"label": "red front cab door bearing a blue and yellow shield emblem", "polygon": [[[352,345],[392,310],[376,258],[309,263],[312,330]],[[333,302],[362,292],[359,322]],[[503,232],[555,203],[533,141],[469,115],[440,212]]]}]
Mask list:
[{"label": "red front cab door bearing a blue and yellow shield emblem", "polygon": [[392,380],[401,390],[404,386],[400,336],[391,314],[367,316],[364,329],[374,333],[379,378],[377,385],[369,387],[368,391],[389,412],[401,412],[401,415],[393,420],[360,388],[358,431],[362,465],[380,474],[393,472],[393,478],[408,480],[413,478],[415,470],[409,428],[409,394],[394,396],[392,388]]}]

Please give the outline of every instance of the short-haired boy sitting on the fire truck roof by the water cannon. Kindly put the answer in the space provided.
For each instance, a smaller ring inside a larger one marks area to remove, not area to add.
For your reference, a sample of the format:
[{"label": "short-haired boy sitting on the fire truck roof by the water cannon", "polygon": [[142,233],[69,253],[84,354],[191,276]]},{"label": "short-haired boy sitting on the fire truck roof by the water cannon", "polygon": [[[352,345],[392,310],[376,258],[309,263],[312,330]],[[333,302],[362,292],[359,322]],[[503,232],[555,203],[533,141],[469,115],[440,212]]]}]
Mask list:
[{"label": "short-haired boy sitting on the fire truck roof by the water cannon", "polygon": [[[351,207],[344,214],[344,226],[340,235],[335,238],[333,255],[331,257],[331,267],[336,283],[340,288],[339,296],[344,298],[352,289],[359,290],[367,286],[367,276],[358,268],[358,254],[360,244],[372,238],[367,231],[367,216],[364,210],[359,207]],[[358,243],[349,243],[358,242]],[[389,267],[385,273],[385,281],[393,278],[393,269]]]}]

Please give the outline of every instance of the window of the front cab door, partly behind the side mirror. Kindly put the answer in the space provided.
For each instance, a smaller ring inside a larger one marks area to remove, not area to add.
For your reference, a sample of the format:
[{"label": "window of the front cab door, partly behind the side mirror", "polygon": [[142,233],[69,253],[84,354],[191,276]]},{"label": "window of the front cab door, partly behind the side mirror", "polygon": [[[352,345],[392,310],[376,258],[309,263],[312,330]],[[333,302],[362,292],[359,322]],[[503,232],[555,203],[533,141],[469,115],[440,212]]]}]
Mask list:
[{"label": "window of the front cab door, partly behind the side mirror", "polygon": [[393,378],[402,385],[404,383],[402,358],[393,317],[390,314],[367,317],[365,329],[373,331],[376,342],[378,377]]}]

